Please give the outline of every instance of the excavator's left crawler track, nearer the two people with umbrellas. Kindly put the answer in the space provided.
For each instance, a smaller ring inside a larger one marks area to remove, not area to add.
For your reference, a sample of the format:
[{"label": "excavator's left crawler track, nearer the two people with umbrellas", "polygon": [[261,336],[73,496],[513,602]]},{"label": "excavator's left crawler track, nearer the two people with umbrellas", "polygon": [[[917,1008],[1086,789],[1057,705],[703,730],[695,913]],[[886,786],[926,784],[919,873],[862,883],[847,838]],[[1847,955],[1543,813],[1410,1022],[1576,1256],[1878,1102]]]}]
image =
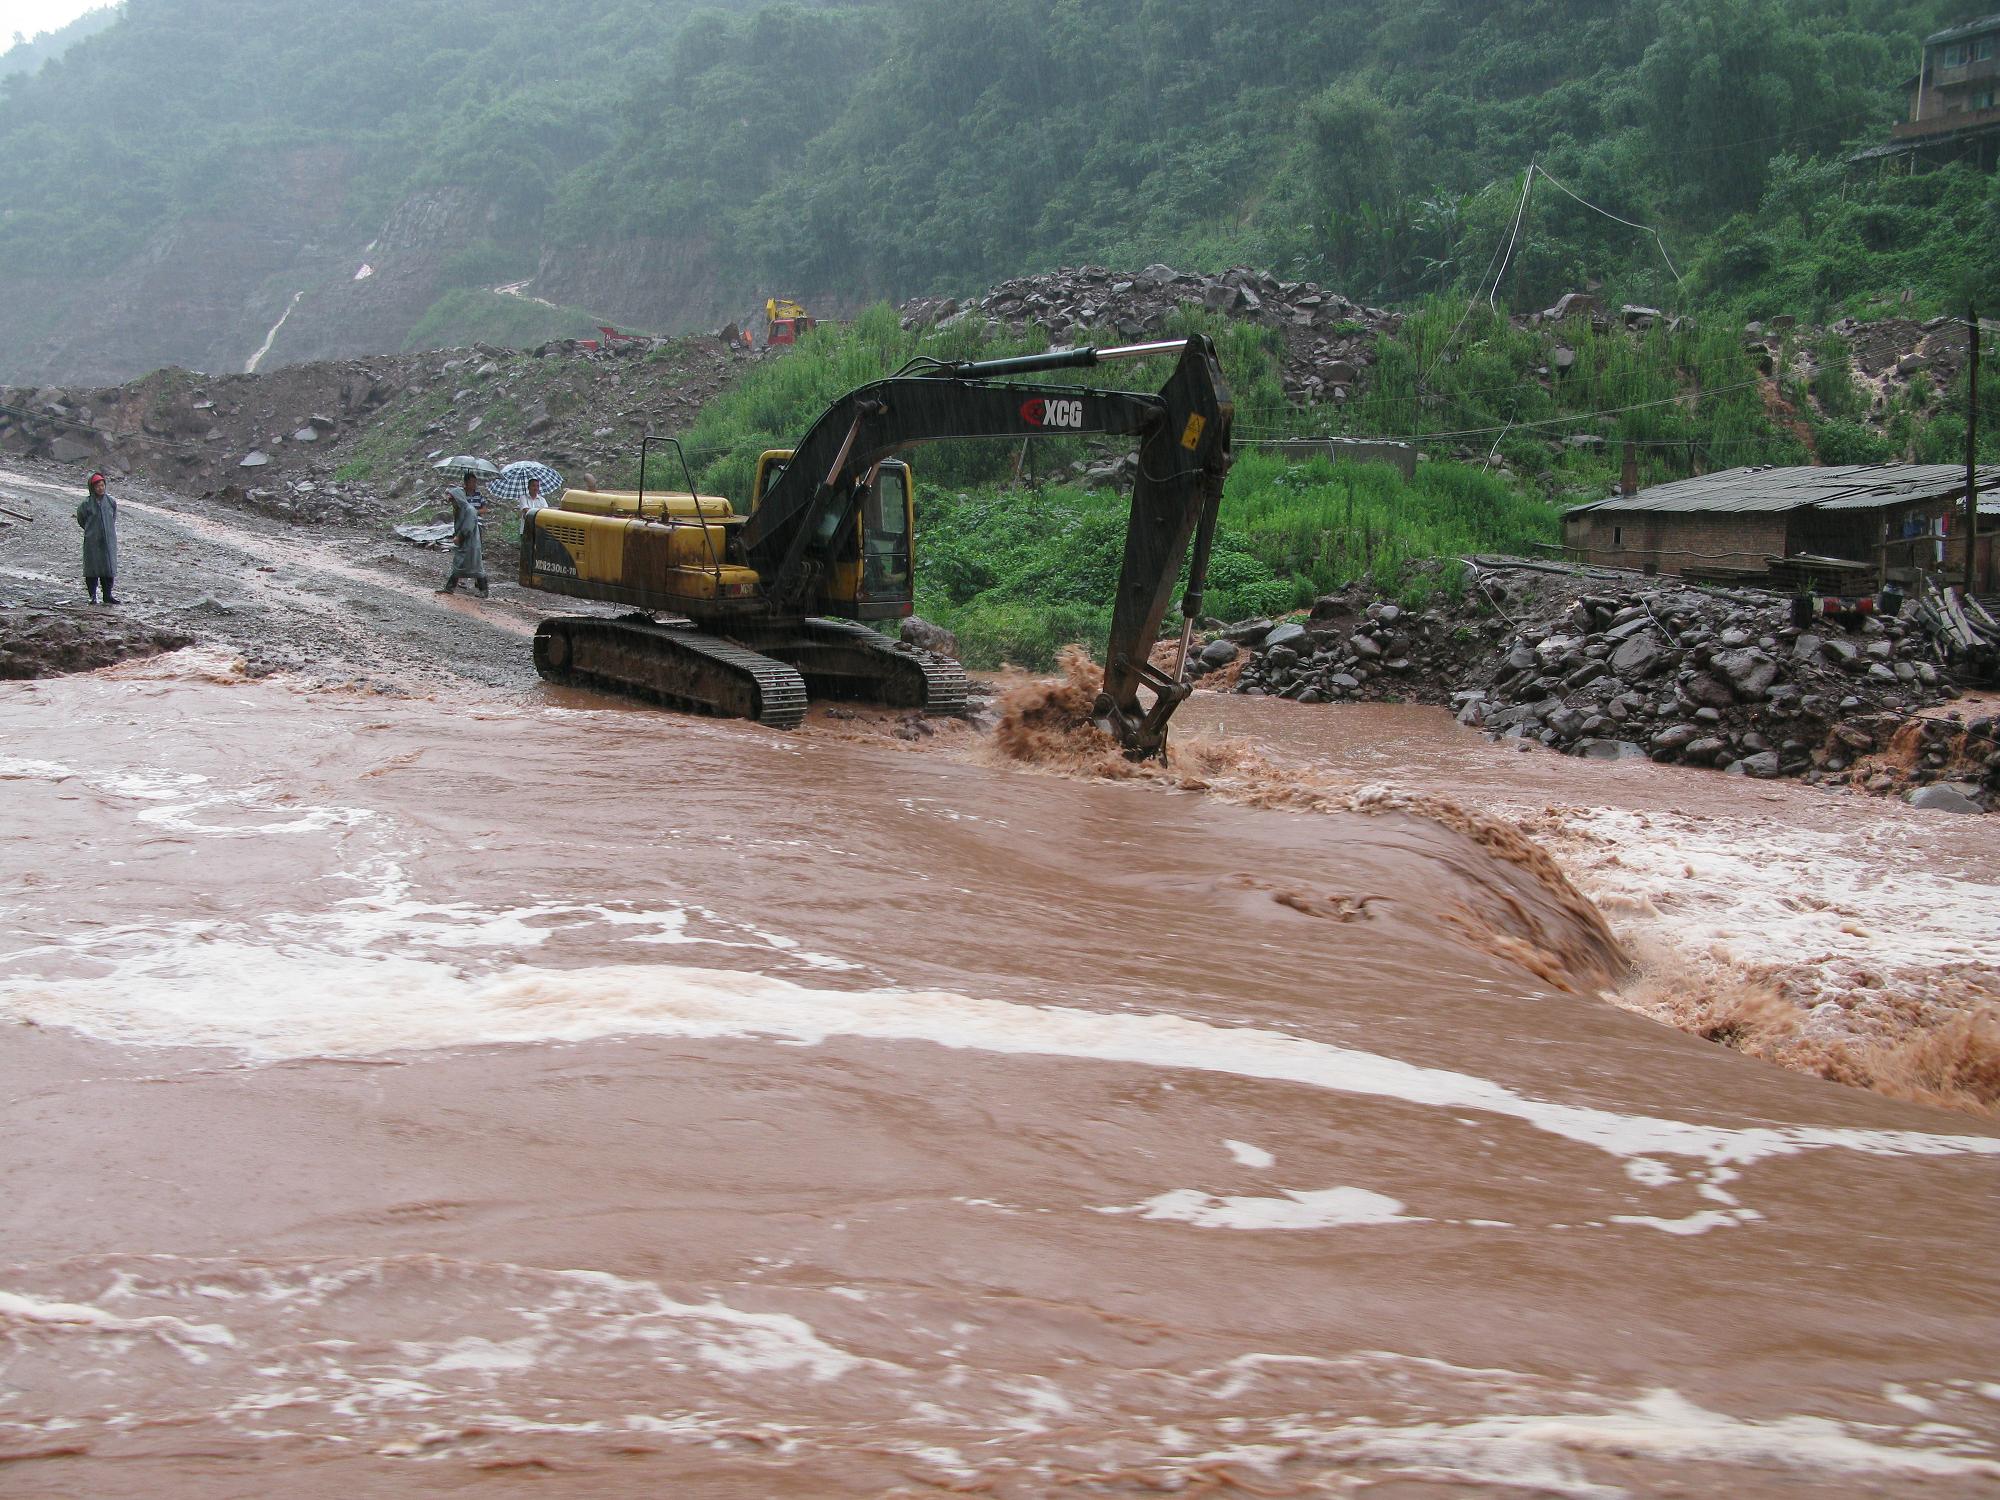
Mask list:
[{"label": "excavator's left crawler track, nearer the two people with umbrellas", "polygon": [[534,666],[550,682],[752,718],[774,730],[798,728],[806,718],[806,680],[794,668],[692,626],[644,616],[542,620]]}]

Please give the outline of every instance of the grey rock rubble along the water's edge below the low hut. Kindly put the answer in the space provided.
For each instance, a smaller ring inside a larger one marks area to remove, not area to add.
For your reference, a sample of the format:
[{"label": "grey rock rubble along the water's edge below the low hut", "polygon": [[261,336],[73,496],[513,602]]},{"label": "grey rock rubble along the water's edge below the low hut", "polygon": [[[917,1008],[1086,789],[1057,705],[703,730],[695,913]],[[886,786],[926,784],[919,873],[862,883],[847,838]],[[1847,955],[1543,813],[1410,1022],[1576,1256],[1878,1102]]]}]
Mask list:
[{"label": "grey rock rubble along the water's edge below the low hut", "polygon": [[1304,704],[1448,704],[1524,748],[2000,808],[2000,724],[1926,716],[1960,688],[1914,618],[1800,620],[1780,594],[1474,566],[1452,604],[1408,610],[1350,588],[1304,620],[1212,630],[1194,670],[1226,668],[1236,692]]}]

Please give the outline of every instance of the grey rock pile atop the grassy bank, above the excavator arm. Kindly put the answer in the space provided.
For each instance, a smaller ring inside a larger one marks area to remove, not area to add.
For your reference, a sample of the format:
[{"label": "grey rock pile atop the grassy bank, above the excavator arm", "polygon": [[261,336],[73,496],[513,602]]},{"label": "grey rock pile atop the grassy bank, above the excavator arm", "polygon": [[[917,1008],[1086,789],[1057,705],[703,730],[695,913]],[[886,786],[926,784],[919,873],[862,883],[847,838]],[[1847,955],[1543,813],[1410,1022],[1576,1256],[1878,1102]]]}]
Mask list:
[{"label": "grey rock pile atop the grassy bank, above the excavator arm", "polygon": [[1376,336],[1402,328],[1400,312],[1364,308],[1314,282],[1284,282],[1248,266],[1216,276],[1172,266],[1136,272],[1064,266],[1046,276],[1000,282],[976,300],[918,298],[904,302],[900,312],[904,328],[950,328],[976,320],[994,334],[1042,326],[1062,342],[1092,328],[1130,340],[1158,338],[1170,314],[1184,306],[1284,330],[1284,386],[1300,402],[1348,400],[1376,362]]}]

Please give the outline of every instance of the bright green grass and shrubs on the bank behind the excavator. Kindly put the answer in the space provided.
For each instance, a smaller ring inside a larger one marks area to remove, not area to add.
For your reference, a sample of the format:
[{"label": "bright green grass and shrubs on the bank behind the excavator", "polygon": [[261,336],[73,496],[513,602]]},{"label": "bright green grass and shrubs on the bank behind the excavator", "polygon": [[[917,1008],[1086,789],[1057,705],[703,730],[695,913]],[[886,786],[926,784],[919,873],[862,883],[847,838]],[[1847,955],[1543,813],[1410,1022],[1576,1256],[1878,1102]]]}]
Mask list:
[{"label": "bright green grass and shrubs on the bank behind the excavator", "polygon": [[[1208,608],[1226,620],[1282,614],[1356,578],[1422,602],[1456,592],[1468,552],[1532,554],[1560,542],[1568,504],[1594,500],[1616,482],[1622,448],[1634,444],[1646,484],[1704,468],[1800,464],[1800,430],[1780,422],[1760,392],[1758,356],[1732,326],[1664,322],[1632,336],[1596,332],[1588,320],[1524,330],[1488,314],[1466,318],[1462,302],[1432,298],[1396,336],[1380,336],[1378,384],[1352,430],[1400,430],[1422,410],[1436,438],[1406,480],[1382,464],[1288,462],[1260,450],[1260,432],[1298,434],[1334,408],[1298,412],[1280,382],[1282,338],[1270,328],[1182,312],[1168,334],[1216,340],[1236,400],[1236,448],[1210,568]],[[1420,358],[1450,342],[1460,358],[1434,360],[1416,402]],[[1534,380],[1550,348],[1576,352],[1562,382]],[[904,330],[878,306],[846,328],[808,334],[782,360],[766,360],[710,400],[684,434],[696,484],[738,506],[750,496],[756,458],[792,446],[820,412],[858,384],[912,358],[1002,358],[1046,348],[1040,338],[990,338],[974,324]],[[1818,350],[1814,388],[1782,382],[1804,434],[1828,462],[1912,458],[1954,462],[1962,452],[1966,390],[1960,376],[1944,410],[1912,390],[1878,426],[1852,420],[1860,394],[1838,340]],[[1120,366],[1116,384],[1154,390],[1168,360]],[[1038,382],[1094,380],[1102,372],[1054,372]],[[2000,460],[2000,382],[1980,392],[1982,452]],[[1560,434],[1604,418],[1608,442],[1574,444]],[[1464,432],[1478,450],[1464,450]],[[1128,518],[1128,498],[1092,484],[1080,460],[1118,444],[1044,438],[1024,454],[1012,440],[948,442],[912,452],[918,478],[918,610],[958,632],[974,666],[1048,666],[1068,642],[1104,644]],[[1022,482],[1026,480],[1026,482]],[[636,474],[620,474],[636,482]],[[648,486],[684,484],[676,458],[654,458]]]}]

